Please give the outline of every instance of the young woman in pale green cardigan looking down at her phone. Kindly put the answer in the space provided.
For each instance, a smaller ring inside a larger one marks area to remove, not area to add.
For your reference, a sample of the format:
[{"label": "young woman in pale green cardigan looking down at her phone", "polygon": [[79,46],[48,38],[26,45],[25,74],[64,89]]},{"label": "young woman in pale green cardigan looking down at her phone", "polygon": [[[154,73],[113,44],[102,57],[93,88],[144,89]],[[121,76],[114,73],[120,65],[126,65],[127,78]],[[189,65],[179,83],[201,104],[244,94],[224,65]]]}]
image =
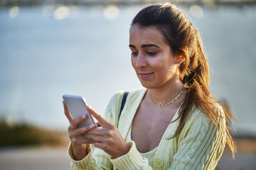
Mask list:
[{"label": "young woman in pale green cardigan looking down at her phone", "polygon": [[129,92],[120,118],[124,92],[105,118],[88,107],[102,128],[76,128],[87,117],[73,120],[64,103],[72,169],[214,169],[226,143],[234,154],[233,117],[209,92],[200,35],[185,13],[168,3],[147,6],[132,20],[129,41],[145,89]]}]

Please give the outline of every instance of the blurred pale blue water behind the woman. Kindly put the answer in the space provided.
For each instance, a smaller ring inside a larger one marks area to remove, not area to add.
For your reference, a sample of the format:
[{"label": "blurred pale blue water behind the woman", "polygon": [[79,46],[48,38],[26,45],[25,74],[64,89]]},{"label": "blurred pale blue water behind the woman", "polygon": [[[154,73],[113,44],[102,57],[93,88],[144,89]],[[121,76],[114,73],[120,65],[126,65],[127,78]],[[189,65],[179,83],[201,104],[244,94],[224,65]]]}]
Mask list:
[{"label": "blurred pale blue water behind the woman", "polygon": [[[239,134],[256,134],[256,7],[203,8],[193,17],[211,66],[211,91],[227,99]],[[118,90],[140,88],[131,67],[129,25],[140,10],[121,6],[115,20],[103,7],[83,7],[63,20],[44,17],[43,7],[0,9],[0,115],[43,127],[66,129],[62,94],[77,94],[100,113]]]}]

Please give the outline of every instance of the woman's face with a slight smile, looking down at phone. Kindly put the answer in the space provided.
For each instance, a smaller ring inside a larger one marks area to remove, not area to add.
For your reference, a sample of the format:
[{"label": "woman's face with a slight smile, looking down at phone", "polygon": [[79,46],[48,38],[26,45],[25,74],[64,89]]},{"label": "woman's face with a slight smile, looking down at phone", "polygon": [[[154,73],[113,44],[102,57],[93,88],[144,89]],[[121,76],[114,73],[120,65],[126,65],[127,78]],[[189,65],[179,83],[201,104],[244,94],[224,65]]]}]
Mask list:
[{"label": "woman's face with a slight smile, looking down at phone", "polygon": [[156,27],[133,25],[129,41],[132,67],[143,87],[156,89],[179,81],[177,56]]}]

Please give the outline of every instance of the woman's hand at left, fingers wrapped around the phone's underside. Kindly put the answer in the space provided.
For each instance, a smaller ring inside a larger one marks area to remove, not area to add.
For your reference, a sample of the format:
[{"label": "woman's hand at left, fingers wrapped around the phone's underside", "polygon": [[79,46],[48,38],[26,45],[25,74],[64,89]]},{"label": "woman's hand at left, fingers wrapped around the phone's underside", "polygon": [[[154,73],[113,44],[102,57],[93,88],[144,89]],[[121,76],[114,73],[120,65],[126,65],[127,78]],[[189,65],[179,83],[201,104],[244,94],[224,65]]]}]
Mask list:
[{"label": "woman's hand at left, fingers wrapped around the phone's underside", "polygon": [[68,133],[69,133],[70,141],[72,143],[74,159],[82,160],[88,154],[86,150],[86,144],[94,143],[94,141],[93,139],[85,138],[84,136],[81,136],[81,135],[88,131],[91,131],[93,128],[95,128],[95,125],[91,124],[86,127],[80,127],[76,129],[77,125],[80,122],[83,122],[83,120],[86,120],[88,116],[82,115],[81,117],[77,117],[73,119],[64,101],[63,101],[63,106],[64,106],[65,115],[68,118],[68,121],[70,122],[70,125],[68,127]]}]

